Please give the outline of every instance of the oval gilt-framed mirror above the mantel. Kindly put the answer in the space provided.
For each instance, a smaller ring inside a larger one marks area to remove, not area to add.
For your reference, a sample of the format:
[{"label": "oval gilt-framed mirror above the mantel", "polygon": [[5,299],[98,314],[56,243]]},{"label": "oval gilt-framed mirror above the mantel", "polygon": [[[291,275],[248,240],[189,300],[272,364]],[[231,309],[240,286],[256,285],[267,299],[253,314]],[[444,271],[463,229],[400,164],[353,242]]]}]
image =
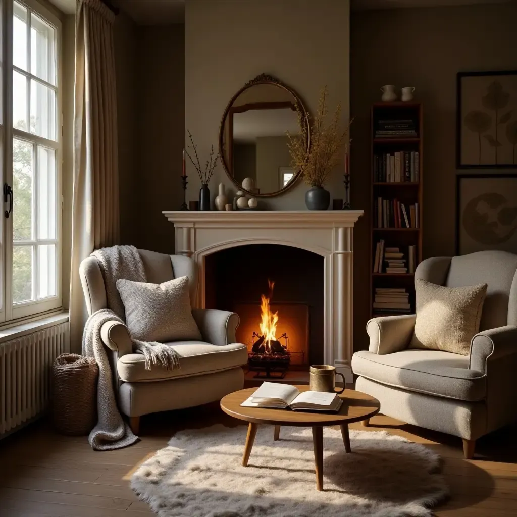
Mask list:
[{"label": "oval gilt-framed mirror above the mantel", "polygon": [[270,75],[261,74],[241,88],[224,110],[219,150],[226,174],[239,190],[255,197],[281,194],[292,187],[300,171],[291,166],[287,133],[310,145],[309,120],[296,93]]}]

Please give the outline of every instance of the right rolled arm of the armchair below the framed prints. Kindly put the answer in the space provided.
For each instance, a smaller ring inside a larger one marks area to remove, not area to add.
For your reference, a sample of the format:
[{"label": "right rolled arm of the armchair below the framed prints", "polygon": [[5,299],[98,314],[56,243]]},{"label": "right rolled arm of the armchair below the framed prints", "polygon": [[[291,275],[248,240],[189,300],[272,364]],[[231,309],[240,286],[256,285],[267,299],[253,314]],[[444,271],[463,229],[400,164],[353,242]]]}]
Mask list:
[{"label": "right rolled arm of the armchair below the framed prints", "polygon": [[486,363],[517,355],[517,327],[505,325],[477,333],[470,341],[468,368],[486,373]]}]

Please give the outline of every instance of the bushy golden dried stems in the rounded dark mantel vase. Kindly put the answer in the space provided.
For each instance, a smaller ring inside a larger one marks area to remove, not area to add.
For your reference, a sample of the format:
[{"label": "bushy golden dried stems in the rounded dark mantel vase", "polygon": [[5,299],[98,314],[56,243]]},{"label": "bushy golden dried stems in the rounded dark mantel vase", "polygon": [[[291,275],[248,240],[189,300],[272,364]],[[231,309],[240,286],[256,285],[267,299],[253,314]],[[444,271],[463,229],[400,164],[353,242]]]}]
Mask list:
[{"label": "bushy golden dried stems in the rounded dark mantel vase", "polygon": [[351,120],[346,129],[341,131],[339,120],[341,117],[341,103],[338,103],[336,111],[328,121],[327,87],[320,90],[318,107],[311,124],[311,145],[306,148],[307,126],[298,104],[298,135],[287,133],[287,147],[291,154],[291,166],[301,175],[311,187],[323,187],[336,165],[340,162],[340,151],[352,124]]}]

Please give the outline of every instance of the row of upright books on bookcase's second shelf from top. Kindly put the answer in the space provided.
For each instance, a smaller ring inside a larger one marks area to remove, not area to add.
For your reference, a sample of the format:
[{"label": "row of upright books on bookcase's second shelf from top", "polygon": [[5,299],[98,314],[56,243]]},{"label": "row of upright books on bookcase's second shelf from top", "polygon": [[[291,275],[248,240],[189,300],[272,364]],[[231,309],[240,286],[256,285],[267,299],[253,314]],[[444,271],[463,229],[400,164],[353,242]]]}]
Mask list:
[{"label": "row of upright books on bookcase's second shelf from top", "polygon": [[373,180],[376,183],[418,183],[419,170],[418,151],[373,155]]}]

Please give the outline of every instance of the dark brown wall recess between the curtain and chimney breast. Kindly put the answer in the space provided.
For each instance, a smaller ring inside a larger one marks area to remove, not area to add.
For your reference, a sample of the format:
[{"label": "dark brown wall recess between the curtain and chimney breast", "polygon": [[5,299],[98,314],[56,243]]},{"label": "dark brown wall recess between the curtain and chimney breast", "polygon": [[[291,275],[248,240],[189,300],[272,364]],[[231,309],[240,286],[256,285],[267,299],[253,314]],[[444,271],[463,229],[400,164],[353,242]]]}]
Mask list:
[{"label": "dark brown wall recess between the curtain and chimney breast", "polygon": [[185,128],[183,25],[115,22],[120,239],[174,253],[172,224],[161,210],[181,204]]}]

